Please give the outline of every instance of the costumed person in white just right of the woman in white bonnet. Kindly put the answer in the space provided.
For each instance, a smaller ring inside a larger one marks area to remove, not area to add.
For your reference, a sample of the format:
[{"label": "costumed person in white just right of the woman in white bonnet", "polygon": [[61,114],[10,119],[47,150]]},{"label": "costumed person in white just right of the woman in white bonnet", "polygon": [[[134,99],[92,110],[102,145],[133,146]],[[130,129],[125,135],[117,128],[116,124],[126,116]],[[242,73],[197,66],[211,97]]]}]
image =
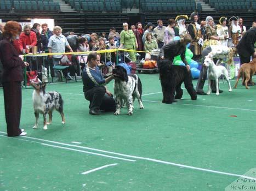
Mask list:
[{"label": "costumed person in white just right of the woman in white bonnet", "polygon": [[223,16],[220,17],[220,25],[217,25],[217,34],[220,38],[220,43],[223,46],[227,46],[227,40],[229,39],[229,28],[227,28],[226,22],[227,18]]}]

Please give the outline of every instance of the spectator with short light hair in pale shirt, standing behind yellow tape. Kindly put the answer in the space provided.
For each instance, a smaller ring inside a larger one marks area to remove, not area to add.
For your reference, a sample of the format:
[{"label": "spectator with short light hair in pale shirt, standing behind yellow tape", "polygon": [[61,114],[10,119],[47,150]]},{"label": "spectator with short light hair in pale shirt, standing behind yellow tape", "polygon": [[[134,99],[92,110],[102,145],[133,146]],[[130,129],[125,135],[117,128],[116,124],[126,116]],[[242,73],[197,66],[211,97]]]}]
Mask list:
[{"label": "spectator with short light hair in pale shirt, standing behind yellow tape", "polygon": [[[50,37],[48,43],[48,50],[49,53],[60,53],[65,52],[65,47],[67,47],[70,52],[73,52],[71,49],[69,42],[67,41],[66,37],[61,34],[62,28],[59,26],[55,26],[53,28],[54,35]],[[58,65],[60,63],[60,59],[62,55],[49,55],[50,58],[53,58],[53,65]],[[60,73],[55,70],[55,76],[58,76],[58,80],[60,81]]]}]

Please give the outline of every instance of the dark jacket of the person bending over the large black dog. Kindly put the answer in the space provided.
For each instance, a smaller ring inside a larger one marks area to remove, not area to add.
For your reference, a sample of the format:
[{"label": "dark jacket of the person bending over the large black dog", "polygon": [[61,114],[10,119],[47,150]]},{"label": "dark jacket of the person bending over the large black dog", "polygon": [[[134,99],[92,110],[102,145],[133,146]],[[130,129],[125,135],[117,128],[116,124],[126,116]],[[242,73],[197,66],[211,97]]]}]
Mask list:
[{"label": "dark jacket of the person bending over the large black dog", "polygon": [[185,45],[182,45],[179,40],[172,40],[160,49],[158,58],[163,56],[164,59],[169,59],[169,61],[173,62],[174,57],[180,55],[181,60],[184,62],[184,64],[187,64],[187,61],[185,58],[185,52],[186,52]]}]

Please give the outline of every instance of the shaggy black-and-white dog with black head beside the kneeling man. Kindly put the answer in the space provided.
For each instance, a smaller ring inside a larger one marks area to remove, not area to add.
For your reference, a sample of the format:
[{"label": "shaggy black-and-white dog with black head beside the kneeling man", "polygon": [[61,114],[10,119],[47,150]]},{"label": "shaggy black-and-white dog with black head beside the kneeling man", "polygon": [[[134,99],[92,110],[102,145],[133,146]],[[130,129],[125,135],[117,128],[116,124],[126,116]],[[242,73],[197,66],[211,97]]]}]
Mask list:
[{"label": "shaggy black-and-white dog with black head beside the kneeling man", "polygon": [[113,68],[113,76],[115,79],[115,115],[120,114],[123,102],[127,105],[128,115],[133,115],[133,102],[135,98],[138,99],[140,109],[143,109],[144,106],[143,103],[141,102],[142,85],[139,77],[135,74],[127,75],[126,69],[119,65]]}]

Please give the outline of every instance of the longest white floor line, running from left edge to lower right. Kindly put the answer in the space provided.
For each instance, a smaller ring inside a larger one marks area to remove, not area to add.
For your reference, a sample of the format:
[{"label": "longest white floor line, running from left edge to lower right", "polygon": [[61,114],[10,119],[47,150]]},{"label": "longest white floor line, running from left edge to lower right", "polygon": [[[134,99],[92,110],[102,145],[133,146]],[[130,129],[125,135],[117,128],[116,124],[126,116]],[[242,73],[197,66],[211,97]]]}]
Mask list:
[{"label": "longest white floor line, running from left edge to lower right", "polygon": [[[6,134],[5,132],[0,132],[0,133]],[[0,135],[0,136],[4,136],[4,135]],[[7,136],[5,136],[5,137],[7,137]],[[180,167],[187,168],[187,169],[194,169],[194,170],[199,170],[199,171],[207,171],[207,172],[212,172],[212,173],[215,173],[215,174],[222,174],[222,175],[235,176],[235,177],[243,177],[243,178],[248,178],[248,179],[251,179],[251,180],[256,180],[256,178],[249,177],[249,176],[232,174],[232,173],[229,173],[229,172],[222,172],[222,171],[217,171],[217,170],[209,170],[209,169],[197,168],[195,166],[189,166],[189,165],[183,165],[183,164],[178,164],[178,163],[166,162],[166,161],[163,161],[163,160],[157,160],[157,159],[152,159],[152,158],[136,157],[136,156],[132,156],[132,155],[128,155],[128,154],[121,154],[121,153],[116,153],[116,152],[99,150],[99,149],[96,149],[96,148],[89,148],[89,147],[83,147],[83,146],[78,146],[78,145],[64,144],[62,142],[56,142],[56,141],[32,138],[30,136],[24,136],[24,138],[41,140],[41,141],[45,141],[45,142],[54,142],[55,144],[59,144],[59,145],[67,145],[67,146],[71,146],[71,147],[78,147],[78,148],[83,148],[83,149],[93,150],[93,151],[98,151],[98,152],[103,152],[103,153],[110,153],[110,154],[115,154],[117,156],[122,156],[122,157],[129,157],[129,158],[134,158],[134,159],[148,160],[148,161],[155,162],[155,163],[162,163],[162,164],[168,164],[168,165],[173,165],[173,166],[180,166]],[[20,140],[23,140],[23,139],[20,139]],[[42,144],[42,145],[48,145],[48,144]],[[53,146],[53,145],[49,145],[49,146]],[[59,146],[54,146],[54,147],[59,147]],[[61,148],[61,147],[59,147],[59,148]],[[64,147],[64,148],[68,149],[68,150],[72,150],[72,148],[67,148],[67,147]],[[81,150],[78,150],[78,151],[81,151]]]}]

